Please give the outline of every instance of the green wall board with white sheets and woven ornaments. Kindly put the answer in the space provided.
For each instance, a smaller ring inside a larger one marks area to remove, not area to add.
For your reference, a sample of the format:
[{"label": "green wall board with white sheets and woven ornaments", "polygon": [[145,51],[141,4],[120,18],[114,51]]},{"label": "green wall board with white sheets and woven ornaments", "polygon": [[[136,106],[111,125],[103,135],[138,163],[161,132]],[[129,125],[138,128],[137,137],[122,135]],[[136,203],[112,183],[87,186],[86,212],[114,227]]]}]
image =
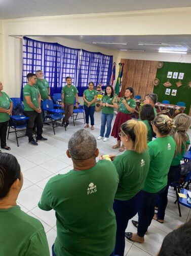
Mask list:
[{"label": "green wall board with white sheets and woven ornaments", "polygon": [[[158,86],[154,93],[158,101],[169,100],[176,105],[178,101],[186,104],[185,113],[189,113],[191,104],[191,63],[163,62],[162,68],[157,69]],[[167,90],[168,89],[168,90]]]}]

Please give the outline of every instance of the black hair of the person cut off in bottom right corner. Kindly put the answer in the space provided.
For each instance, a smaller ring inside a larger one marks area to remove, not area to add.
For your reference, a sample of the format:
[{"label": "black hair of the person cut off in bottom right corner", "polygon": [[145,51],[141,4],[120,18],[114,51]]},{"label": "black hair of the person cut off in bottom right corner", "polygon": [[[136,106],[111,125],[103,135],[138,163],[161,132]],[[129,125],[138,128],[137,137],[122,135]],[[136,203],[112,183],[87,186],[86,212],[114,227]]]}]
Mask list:
[{"label": "black hair of the person cut off in bottom right corner", "polygon": [[190,252],[191,219],[164,238],[158,256],[188,256]]}]

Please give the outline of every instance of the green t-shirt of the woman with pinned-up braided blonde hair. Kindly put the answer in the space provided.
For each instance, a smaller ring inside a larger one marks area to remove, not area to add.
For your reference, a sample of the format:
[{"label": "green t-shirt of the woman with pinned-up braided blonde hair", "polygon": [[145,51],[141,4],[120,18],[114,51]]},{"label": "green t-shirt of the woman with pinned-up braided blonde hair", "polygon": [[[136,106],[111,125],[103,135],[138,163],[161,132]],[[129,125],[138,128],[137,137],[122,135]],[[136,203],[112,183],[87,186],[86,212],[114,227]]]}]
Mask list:
[{"label": "green t-shirt of the woman with pinned-up braided blonde hair", "polygon": [[167,185],[167,174],[174,157],[175,141],[170,136],[156,138],[148,143],[150,166],[143,190],[157,193]]}]

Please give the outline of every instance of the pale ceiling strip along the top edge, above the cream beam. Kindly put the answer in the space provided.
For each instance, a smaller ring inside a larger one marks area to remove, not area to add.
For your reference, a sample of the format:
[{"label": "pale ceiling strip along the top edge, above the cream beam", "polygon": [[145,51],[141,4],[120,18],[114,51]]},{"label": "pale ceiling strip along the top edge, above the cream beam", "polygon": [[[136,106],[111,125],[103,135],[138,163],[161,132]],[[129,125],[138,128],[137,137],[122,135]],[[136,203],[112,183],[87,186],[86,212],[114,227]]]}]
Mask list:
[{"label": "pale ceiling strip along the top edge, above the cream beam", "polygon": [[0,19],[188,6],[190,0],[0,0]]}]

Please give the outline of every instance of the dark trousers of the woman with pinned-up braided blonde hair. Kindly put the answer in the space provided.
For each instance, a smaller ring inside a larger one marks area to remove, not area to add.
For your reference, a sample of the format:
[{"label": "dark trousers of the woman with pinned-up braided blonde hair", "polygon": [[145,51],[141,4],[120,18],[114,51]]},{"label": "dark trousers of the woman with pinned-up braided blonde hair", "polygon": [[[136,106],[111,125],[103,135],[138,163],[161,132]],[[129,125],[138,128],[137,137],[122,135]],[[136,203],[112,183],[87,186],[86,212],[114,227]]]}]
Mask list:
[{"label": "dark trousers of the woman with pinned-up braided blonde hair", "polygon": [[138,227],[137,235],[139,237],[144,237],[148,226],[150,225],[152,218],[155,214],[155,203],[157,196],[166,189],[166,186],[157,193],[150,193],[143,191],[142,204],[140,210],[138,211]]}]

